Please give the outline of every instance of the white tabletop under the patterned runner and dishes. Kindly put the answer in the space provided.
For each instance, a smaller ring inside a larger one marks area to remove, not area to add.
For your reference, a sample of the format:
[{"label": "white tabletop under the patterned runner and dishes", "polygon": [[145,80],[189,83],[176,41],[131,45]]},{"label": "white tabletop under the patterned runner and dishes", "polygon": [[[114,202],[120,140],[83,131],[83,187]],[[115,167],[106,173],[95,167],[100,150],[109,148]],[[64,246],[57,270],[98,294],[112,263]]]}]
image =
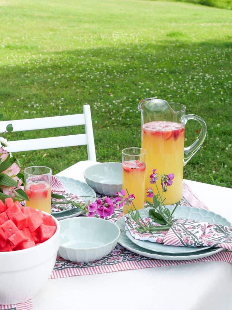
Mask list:
[{"label": "white tabletop under the patterned runner and dishes", "polygon": [[[58,175],[84,181],[91,164],[79,162]],[[232,222],[231,188],[185,182],[210,210]],[[32,301],[34,310],[224,310],[232,308],[231,284],[230,263],[189,263],[50,279]]]}]

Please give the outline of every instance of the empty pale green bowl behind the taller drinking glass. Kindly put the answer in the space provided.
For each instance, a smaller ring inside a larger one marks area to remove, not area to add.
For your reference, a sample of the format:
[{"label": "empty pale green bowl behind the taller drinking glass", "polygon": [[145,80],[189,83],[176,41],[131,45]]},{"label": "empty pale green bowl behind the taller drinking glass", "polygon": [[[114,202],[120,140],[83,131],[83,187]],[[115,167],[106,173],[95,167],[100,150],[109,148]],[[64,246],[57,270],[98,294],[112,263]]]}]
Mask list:
[{"label": "empty pale green bowl behind the taller drinking glass", "polygon": [[122,190],[122,164],[102,162],[84,170],[84,179],[95,192],[114,195]]}]

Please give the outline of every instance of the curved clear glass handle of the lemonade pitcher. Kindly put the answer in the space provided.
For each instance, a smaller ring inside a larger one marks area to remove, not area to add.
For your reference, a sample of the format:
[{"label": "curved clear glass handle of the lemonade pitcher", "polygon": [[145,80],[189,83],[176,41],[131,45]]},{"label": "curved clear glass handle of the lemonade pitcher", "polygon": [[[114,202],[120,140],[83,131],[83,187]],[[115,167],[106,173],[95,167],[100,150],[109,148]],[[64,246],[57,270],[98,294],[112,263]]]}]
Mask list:
[{"label": "curved clear glass handle of the lemonade pitcher", "polygon": [[194,114],[188,114],[185,117],[185,124],[187,121],[190,119],[194,119],[195,121],[199,122],[200,124],[200,134],[197,137],[197,139],[191,144],[189,147],[184,148],[184,166],[187,164],[187,162],[190,160],[191,157],[199,150],[201,145],[204,142],[204,139],[206,137],[206,132],[207,132],[207,126],[203,118],[201,118],[198,115]]}]

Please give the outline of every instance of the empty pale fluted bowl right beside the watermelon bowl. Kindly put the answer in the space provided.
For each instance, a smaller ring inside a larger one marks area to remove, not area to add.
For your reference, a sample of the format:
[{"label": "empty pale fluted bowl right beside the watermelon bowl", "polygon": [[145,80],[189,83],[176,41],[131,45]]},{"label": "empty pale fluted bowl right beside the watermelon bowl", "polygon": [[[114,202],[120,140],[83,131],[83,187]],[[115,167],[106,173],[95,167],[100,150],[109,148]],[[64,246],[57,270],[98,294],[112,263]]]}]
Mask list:
[{"label": "empty pale fluted bowl right beside the watermelon bowl", "polygon": [[120,229],[95,217],[75,217],[60,221],[58,254],[72,262],[91,262],[109,254],[116,246]]}]

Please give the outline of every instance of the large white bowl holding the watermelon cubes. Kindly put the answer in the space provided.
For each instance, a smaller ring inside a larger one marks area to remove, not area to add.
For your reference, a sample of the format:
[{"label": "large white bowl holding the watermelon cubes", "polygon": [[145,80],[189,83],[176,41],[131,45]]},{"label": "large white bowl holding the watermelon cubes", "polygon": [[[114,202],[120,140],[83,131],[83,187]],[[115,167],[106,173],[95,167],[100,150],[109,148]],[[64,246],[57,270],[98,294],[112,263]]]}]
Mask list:
[{"label": "large white bowl holding the watermelon cubes", "polygon": [[0,252],[0,304],[31,299],[48,280],[60,241],[60,225],[53,220],[57,229],[47,241],[24,250]]}]

